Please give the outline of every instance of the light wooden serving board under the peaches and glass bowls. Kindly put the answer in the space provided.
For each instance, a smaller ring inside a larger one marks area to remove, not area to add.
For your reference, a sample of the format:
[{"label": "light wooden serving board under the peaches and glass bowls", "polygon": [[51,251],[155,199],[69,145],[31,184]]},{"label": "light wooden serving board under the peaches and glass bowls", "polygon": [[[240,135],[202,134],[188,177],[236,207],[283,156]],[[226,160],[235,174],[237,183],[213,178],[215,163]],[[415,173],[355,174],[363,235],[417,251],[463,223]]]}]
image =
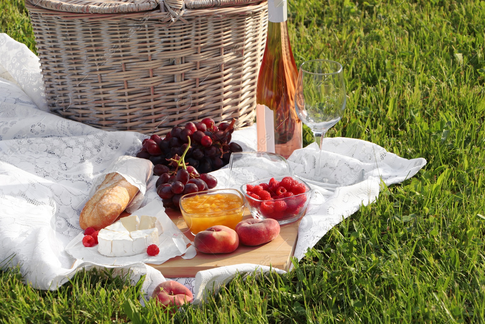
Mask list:
[{"label": "light wooden serving board under the peaches and glass bowls", "polygon": [[[194,235],[190,233],[180,212],[165,209],[168,217],[178,226],[182,233],[191,241]],[[244,219],[252,218],[247,211]],[[167,278],[194,277],[195,273],[201,270],[208,270],[222,266],[230,266],[240,263],[254,263],[265,266],[273,266],[278,269],[288,271],[293,256],[296,239],[298,236],[298,224],[300,221],[281,225],[281,230],[276,239],[259,246],[239,245],[236,251],[227,254],[205,254],[197,251],[197,255],[190,260],[185,260],[181,256],[176,256],[162,264],[149,264]]]}]

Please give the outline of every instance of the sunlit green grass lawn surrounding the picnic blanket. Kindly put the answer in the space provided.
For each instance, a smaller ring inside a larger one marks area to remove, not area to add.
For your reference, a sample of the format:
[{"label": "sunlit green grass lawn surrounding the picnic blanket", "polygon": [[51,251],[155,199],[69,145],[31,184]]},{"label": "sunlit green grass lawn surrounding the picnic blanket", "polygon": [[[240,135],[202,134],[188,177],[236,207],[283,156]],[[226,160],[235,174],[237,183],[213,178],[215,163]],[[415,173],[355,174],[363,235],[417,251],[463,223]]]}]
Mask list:
[{"label": "sunlit green grass lawn surrounding the picnic blanket", "polygon": [[[33,50],[21,3],[0,3],[1,28]],[[140,307],[122,279],[80,273],[45,292],[5,271],[0,321],[123,323],[129,299],[154,323],[485,323],[485,2],[296,0],[289,13],[297,64],[344,64],[348,106],[327,136],[426,167],[330,230],[291,273],[237,278],[173,317]]]}]

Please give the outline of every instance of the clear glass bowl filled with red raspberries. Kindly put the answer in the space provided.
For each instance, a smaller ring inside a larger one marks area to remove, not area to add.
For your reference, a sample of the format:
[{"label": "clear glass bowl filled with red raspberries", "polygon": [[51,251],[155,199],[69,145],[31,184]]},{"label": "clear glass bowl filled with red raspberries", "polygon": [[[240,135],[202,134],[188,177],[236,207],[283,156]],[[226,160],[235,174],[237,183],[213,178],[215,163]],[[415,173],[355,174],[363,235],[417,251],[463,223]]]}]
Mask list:
[{"label": "clear glass bowl filled with red raspberries", "polygon": [[254,218],[272,218],[280,225],[300,219],[307,210],[310,187],[298,176],[279,176],[241,186]]}]

